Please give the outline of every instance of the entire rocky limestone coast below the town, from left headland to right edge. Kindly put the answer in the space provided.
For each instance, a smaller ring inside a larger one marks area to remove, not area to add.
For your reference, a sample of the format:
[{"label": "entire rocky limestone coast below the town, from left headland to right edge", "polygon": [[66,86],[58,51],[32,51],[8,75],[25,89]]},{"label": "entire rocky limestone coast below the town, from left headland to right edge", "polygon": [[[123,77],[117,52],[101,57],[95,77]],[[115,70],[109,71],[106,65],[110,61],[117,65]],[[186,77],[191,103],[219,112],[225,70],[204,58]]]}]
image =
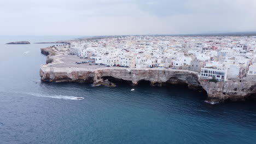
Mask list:
[{"label": "entire rocky limestone coast below the town, from left headland to right edge", "polygon": [[[115,86],[117,83],[136,86],[143,81],[149,82],[151,86],[185,84],[190,89],[206,91],[207,101],[224,102],[226,100],[255,99],[256,85],[248,81],[210,82],[207,79],[200,79],[198,73],[194,71],[164,68],[54,67],[56,63],[64,63],[60,60],[60,55],[51,55],[56,51],[50,47],[41,49],[41,51],[44,55],[48,55],[48,64],[40,67],[41,81],[44,82],[93,83],[94,86]],[[51,59],[50,62],[49,59]]]}]

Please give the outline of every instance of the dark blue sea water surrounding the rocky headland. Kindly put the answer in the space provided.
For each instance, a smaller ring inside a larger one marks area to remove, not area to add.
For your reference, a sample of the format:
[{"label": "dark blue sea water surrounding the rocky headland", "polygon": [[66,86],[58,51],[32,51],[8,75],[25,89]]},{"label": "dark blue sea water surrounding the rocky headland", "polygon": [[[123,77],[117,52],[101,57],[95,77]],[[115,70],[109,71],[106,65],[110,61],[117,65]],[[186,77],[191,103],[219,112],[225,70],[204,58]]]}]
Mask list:
[{"label": "dark blue sea water surrounding the rocky headland", "polygon": [[212,106],[183,86],[42,83],[51,44],[4,45],[73,38],[0,36],[0,143],[255,143],[255,103]]}]

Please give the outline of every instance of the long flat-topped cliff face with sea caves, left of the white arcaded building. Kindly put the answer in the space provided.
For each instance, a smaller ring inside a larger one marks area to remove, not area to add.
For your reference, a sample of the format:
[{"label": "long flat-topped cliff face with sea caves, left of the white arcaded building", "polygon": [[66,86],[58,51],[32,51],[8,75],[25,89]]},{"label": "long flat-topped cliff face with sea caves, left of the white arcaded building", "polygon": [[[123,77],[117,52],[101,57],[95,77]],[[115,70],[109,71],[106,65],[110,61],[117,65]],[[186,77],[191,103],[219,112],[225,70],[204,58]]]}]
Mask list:
[{"label": "long flat-topped cliff face with sea caves, left of the white arcaded building", "polygon": [[49,68],[41,67],[42,81],[51,82],[95,82],[98,80],[124,81],[138,85],[140,81],[150,81],[153,86],[165,83],[187,83],[189,88],[200,88],[197,73],[186,70],[166,69],[125,69],[125,68]]}]

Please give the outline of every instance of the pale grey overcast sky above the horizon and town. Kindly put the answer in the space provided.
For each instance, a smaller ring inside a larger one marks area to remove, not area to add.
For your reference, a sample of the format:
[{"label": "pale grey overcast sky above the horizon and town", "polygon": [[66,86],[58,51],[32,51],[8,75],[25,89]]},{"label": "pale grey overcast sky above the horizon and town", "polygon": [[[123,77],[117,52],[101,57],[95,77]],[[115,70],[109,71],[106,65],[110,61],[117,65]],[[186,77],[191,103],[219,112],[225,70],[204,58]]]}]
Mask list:
[{"label": "pale grey overcast sky above the horizon and town", "polygon": [[0,0],[0,35],[256,31],[256,0]]}]

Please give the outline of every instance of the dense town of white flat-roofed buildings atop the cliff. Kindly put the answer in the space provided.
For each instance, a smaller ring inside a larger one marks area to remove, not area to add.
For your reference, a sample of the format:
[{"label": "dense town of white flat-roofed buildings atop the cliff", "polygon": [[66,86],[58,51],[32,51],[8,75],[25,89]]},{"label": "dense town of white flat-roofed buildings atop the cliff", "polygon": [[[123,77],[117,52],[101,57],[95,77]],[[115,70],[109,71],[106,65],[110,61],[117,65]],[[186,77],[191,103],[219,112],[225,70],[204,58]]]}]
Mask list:
[{"label": "dense town of white flat-roofed buildings atop the cliff", "polygon": [[196,71],[202,79],[256,81],[256,37],[126,36],[74,41],[70,55],[110,67]]}]

